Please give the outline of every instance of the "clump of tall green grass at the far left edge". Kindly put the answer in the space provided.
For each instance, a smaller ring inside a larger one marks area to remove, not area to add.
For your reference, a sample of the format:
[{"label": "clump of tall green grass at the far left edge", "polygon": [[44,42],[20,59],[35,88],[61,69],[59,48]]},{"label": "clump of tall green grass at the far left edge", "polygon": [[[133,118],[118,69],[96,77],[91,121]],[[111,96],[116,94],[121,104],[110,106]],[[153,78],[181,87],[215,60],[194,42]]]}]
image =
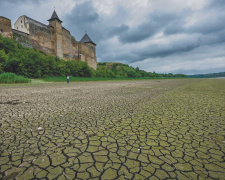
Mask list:
[{"label": "clump of tall green grass at the far left edge", "polygon": [[0,74],[1,84],[12,84],[12,83],[29,83],[31,79],[25,78],[23,76],[16,75],[14,73],[3,73]]}]

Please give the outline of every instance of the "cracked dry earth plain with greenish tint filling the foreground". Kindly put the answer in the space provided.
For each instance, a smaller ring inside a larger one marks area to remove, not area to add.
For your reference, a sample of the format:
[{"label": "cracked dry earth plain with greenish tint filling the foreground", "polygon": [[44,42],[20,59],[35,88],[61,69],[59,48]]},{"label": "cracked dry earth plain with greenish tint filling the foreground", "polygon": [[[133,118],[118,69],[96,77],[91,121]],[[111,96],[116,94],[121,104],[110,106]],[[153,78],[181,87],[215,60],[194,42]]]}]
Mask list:
[{"label": "cracked dry earth plain with greenish tint filling the foreground", "polygon": [[0,85],[0,179],[225,179],[225,79]]}]

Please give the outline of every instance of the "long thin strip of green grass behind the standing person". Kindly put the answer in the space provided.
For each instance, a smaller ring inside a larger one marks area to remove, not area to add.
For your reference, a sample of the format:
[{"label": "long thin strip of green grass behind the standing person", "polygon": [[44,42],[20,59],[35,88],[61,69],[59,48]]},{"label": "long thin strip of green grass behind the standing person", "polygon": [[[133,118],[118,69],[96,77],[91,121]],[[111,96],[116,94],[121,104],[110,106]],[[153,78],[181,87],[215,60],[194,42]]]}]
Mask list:
[{"label": "long thin strip of green grass behind the standing person", "polygon": [[[70,76],[70,82],[79,81],[118,81],[118,80],[142,80],[142,79],[177,79],[177,78],[162,78],[162,77],[142,77],[142,78],[108,78],[108,77],[73,77]],[[180,78],[179,78],[180,79]],[[43,79],[48,82],[66,82],[66,77],[47,77]]]}]

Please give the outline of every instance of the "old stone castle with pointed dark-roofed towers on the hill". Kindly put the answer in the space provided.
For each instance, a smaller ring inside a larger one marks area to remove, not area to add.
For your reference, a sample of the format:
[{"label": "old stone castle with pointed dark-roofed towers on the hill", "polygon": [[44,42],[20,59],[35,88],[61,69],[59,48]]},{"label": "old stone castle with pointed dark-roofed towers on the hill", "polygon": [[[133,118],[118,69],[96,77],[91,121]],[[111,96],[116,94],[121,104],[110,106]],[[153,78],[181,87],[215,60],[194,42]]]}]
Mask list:
[{"label": "old stone castle with pointed dark-roofed towers on the hill", "polygon": [[96,44],[86,33],[78,42],[66,28],[57,13],[53,12],[49,25],[26,15],[20,16],[11,26],[11,20],[0,16],[0,34],[14,37],[16,42],[27,48],[34,48],[46,54],[63,59],[86,61],[89,67],[97,69]]}]

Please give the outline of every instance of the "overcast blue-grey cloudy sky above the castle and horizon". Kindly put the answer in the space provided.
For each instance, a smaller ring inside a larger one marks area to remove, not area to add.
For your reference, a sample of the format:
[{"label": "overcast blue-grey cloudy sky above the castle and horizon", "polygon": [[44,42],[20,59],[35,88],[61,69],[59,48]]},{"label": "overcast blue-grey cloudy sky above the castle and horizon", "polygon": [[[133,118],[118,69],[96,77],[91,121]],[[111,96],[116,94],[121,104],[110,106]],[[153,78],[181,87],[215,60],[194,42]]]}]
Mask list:
[{"label": "overcast blue-grey cloudy sky above the castle and horizon", "polygon": [[54,7],[79,41],[87,31],[98,62],[157,73],[225,72],[225,0],[0,0],[0,16],[48,24]]}]

